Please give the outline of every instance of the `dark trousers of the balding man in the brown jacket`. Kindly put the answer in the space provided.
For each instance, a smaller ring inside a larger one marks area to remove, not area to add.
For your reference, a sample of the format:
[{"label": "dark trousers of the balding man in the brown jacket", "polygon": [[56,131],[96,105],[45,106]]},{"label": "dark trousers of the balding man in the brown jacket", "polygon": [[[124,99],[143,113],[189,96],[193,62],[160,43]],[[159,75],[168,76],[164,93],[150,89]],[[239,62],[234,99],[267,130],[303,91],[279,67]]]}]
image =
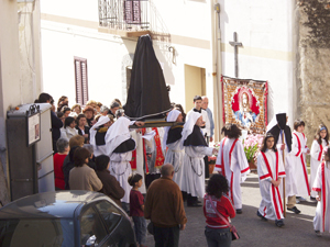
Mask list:
[{"label": "dark trousers of the balding man in the brown jacket", "polygon": [[157,227],[154,225],[155,247],[178,247],[179,226]]}]

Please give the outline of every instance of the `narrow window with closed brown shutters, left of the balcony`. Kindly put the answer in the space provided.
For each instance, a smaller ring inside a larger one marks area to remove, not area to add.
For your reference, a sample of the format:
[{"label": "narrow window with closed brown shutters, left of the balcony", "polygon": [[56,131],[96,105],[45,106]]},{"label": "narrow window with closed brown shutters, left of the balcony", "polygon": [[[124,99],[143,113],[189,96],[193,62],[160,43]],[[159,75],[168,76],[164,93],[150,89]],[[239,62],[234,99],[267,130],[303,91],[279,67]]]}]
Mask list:
[{"label": "narrow window with closed brown shutters, left of the balcony", "polygon": [[75,57],[76,102],[85,105],[88,101],[87,59]]}]

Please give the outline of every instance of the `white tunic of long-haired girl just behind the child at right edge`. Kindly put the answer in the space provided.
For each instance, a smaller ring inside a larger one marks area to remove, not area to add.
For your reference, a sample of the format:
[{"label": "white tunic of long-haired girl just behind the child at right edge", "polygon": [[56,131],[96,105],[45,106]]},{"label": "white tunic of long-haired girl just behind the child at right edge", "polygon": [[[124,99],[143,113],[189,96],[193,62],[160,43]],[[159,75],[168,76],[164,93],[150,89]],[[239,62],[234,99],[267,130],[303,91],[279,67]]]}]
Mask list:
[{"label": "white tunic of long-haired girl just behind the child at right edge", "polygon": [[[318,167],[322,162],[322,153],[323,148],[327,146],[327,141],[322,139],[322,144],[320,145],[317,139],[315,139],[311,144],[310,148],[310,188],[312,188]],[[316,198],[317,192],[311,190],[310,191],[310,197]]]}]

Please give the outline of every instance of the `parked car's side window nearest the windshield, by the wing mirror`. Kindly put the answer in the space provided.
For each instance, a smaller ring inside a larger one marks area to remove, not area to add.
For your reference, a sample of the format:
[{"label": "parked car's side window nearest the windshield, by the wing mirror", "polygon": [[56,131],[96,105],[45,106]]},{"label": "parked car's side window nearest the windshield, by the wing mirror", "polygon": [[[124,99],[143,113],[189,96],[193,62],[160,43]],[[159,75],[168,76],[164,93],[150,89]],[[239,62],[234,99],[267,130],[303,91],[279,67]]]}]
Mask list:
[{"label": "parked car's side window nearest the windshield, by the wing mirror", "polygon": [[80,215],[80,242],[81,246],[96,246],[107,235],[103,223],[92,206]]}]

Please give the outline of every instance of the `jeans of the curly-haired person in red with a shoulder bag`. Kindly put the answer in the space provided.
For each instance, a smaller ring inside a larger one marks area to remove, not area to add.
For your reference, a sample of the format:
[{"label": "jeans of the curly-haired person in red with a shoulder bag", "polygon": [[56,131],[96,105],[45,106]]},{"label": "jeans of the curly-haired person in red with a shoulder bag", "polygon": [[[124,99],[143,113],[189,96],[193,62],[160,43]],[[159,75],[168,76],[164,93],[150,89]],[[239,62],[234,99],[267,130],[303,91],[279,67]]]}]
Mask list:
[{"label": "jeans of the curly-haired person in red with a shoulder bag", "polygon": [[207,238],[208,247],[230,247],[231,233],[229,228],[210,228],[205,227],[205,236]]}]

